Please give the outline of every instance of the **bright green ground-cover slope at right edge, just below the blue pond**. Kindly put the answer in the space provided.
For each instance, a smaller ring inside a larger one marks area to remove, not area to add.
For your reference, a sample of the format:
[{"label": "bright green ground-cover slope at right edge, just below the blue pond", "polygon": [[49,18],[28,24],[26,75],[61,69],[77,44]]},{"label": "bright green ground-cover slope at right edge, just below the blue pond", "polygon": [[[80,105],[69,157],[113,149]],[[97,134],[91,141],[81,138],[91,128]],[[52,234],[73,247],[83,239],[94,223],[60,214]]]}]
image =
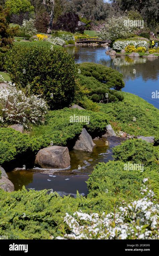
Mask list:
[{"label": "bright green ground-cover slope at right edge, just below the blue pond", "polygon": [[[100,104],[115,130],[129,134],[156,136],[159,134],[159,110],[144,99],[121,92],[123,101]],[[134,122],[134,117],[136,122]]]}]

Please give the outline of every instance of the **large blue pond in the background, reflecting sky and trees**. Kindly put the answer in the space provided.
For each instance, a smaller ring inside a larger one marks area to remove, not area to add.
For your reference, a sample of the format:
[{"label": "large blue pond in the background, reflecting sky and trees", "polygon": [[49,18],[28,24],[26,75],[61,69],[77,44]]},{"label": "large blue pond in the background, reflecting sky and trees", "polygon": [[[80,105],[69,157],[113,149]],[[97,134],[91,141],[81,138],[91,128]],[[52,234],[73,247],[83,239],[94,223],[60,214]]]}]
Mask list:
[{"label": "large blue pond in the background, reflecting sky and trees", "polygon": [[152,92],[159,90],[159,59],[109,56],[104,47],[70,46],[66,51],[76,63],[95,62],[116,69],[123,74],[124,92],[134,93],[159,108],[159,99],[152,99]]}]

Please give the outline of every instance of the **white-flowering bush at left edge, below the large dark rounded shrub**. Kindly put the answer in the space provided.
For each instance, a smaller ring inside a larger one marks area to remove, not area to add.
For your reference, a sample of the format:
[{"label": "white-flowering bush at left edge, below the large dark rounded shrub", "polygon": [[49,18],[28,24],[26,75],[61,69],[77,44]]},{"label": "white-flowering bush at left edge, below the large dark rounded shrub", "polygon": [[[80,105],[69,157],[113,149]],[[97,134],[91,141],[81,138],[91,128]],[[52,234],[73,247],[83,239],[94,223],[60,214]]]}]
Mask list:
[{"label": "white-flowering bush at left edge, below the large dark rounded shrub", "polygon": [[[6,83],[6,82],[5,82]],[[39,95],[26,97],[22,91],[18,91],[15,85],[8,83],[5,89],[1,89],[0,97],[0,124],[21,124],[29,128],[31,124],[44,122],[44,115],[47,113],[46,102]]]}]

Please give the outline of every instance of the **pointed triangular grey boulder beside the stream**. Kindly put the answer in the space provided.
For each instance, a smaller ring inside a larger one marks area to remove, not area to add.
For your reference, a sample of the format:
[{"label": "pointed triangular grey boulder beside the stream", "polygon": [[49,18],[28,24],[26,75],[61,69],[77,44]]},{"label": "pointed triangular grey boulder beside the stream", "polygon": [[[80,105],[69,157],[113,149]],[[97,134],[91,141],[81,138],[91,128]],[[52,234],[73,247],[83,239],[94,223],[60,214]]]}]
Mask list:
[{"label": "pointed triangular grey boulder beside the stream", "polygon": [[91,135],[86,131],[85,128],[83,128],[73,149],[92,152],[94,146],[96,146],[96,144],[93,142]]}]

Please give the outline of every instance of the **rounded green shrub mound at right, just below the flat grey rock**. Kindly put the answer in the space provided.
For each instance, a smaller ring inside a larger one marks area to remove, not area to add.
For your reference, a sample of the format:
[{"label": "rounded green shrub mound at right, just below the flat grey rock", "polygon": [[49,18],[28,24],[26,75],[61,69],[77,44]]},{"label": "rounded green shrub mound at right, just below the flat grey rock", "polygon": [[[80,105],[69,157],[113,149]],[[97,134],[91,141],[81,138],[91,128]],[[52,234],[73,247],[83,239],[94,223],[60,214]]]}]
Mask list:
[{"label": "rounded green shrub mound at right, just below the flat grey rock", "polygon": [[121,145],[113,148],[115,160],[123,162],[131,162],[136,164],[144,164],[144,166],[155,162],[154,146],[143,139],[130,139],[123,142]]}]

